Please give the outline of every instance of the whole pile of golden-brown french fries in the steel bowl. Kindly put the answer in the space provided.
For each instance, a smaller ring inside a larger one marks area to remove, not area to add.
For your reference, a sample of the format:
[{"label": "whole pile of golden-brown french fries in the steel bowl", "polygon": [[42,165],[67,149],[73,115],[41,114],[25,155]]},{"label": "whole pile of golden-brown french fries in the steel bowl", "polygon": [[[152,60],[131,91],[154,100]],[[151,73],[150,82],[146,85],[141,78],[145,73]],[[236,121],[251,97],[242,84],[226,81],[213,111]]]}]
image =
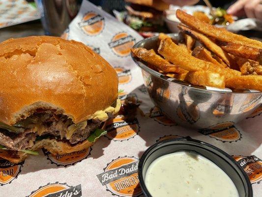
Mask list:
[{"label": "whole pile of golden-brown french fries in the steel bowl", "polygon": [[182,10],[176,16],[183,40],[160,33],[157,52],[132,48],[132,53],[150,68],[194,85],[262,92],[261,41],[217,28]]}]

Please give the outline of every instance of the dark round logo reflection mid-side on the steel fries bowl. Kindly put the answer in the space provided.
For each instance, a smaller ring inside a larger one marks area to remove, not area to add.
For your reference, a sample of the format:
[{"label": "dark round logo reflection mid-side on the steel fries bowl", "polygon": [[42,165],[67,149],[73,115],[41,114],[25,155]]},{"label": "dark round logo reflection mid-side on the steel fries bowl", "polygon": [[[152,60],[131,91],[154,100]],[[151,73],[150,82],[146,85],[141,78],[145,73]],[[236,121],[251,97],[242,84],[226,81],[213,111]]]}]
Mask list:
[{"label": "dark round logo reflection mid-side on the steel fries bowl", "polygon": [[199,108],[193,102],[180,101],[176,113],[179,118],[190,124],[196,123],[200,117]]}]

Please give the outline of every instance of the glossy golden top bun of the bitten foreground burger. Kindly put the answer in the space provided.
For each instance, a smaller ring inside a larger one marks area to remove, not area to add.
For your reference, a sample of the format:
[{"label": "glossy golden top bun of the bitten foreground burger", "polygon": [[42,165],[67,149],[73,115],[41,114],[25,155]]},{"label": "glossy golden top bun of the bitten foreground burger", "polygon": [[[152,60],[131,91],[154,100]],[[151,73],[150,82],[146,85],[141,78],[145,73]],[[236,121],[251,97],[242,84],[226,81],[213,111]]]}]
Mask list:
[{"label": "glossy golden top bun of the bitten foreground burger", "polygon": [[83,43],[30,36],[0,43],[0,122],[13,125],[37,108],[75,123],[115,102],[115,69]]}]

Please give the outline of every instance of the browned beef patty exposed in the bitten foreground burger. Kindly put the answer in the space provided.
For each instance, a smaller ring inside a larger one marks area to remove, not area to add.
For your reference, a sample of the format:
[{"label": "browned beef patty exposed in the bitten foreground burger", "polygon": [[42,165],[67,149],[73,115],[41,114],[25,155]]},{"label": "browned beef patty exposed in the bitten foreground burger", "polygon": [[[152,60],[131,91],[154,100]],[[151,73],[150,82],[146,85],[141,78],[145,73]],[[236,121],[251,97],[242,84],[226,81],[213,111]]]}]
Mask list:
[{"label": "browned beef patty exposed in the bitten foreground burger", "polygon": [[[55,137],[64,141],[66,129],[72,124],[74,124],[72,120],[65,115],[55,114],[51,110],[37,110],[27,119],[14,125],[25,128],[24,132],[16,134],[0,128],[0,145],[8,150],[23,150],[32,147],[39,136]],[[100,125],[99,120],[87,120],[86,128],[75,130],[71,138],[66,141],[72,145],[84,141]],[[34,129],[35,127],[38,132]]]}]

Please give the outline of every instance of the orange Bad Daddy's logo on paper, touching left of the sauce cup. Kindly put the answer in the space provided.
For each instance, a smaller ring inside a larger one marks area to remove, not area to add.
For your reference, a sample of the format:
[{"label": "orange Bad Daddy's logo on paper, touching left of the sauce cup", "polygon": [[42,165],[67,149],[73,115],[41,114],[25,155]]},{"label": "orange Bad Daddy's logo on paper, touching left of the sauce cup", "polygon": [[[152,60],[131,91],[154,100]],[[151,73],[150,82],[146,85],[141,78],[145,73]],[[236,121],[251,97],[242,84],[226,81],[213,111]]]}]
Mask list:
[{"label": "orange Bad Daddy's logo on paper, touching left of the sauce cup", "polygon": [[139,197],[142,189],[138,179],[138,162],[135,157],[118,157],[97,174],[97,178],[107,191],[118,197]]}]

